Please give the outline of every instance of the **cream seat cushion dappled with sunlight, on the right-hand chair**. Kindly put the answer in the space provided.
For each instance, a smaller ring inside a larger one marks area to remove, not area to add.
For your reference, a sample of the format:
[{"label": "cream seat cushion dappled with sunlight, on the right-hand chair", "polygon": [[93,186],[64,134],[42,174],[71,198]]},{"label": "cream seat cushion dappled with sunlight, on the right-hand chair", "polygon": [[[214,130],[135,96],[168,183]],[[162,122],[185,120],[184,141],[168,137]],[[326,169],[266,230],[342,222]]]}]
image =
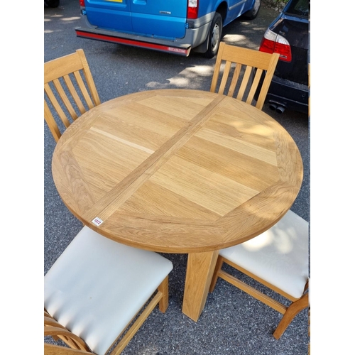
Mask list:
[{"label": "cream seat cushion dappled with sunlight, on the right-hand chair", "polygon": [[299,298],[308,279],[308,222],[288,211],[268,231],[219,255]]}]

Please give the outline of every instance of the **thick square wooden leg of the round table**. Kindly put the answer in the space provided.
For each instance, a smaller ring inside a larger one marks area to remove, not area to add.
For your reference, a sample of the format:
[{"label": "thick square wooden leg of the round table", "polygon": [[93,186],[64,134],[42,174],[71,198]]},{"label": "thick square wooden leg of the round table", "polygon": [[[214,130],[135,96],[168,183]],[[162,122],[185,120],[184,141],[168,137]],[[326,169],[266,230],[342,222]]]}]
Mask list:
[{"label": "thick square wooden leg of the round table", "polygon": [[207,300],[219,251],[190,253],[187,258],[184,300],[182,313],[192,320],[199,319]]}]

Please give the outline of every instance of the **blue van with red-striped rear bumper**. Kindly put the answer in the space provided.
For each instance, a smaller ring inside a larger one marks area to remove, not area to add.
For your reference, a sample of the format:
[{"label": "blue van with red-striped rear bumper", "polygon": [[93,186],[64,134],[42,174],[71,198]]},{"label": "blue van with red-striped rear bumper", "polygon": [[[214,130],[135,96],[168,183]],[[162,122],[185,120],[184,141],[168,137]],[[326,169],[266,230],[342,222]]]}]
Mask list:
[{"label": "blue van with red-striped rear bumper", "polygon": [[217,54],[222,27],[256,18],[261,0],[80,0],[78,37],[188,56]]}]

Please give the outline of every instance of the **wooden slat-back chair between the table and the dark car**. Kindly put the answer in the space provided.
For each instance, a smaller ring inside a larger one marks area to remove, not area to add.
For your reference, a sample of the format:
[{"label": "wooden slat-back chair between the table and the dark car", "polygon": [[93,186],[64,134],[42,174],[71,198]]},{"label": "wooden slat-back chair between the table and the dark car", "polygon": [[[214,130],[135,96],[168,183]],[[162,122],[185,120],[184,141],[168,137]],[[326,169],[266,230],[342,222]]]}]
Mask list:
[{"label": "wooden slat-back chair between the table and the dark car", "polygon": [[247,104],[257,97],[255,107],[262,109],[279,56],[221,42],[209,91],[216,92],[219,84],[219,94]]}]

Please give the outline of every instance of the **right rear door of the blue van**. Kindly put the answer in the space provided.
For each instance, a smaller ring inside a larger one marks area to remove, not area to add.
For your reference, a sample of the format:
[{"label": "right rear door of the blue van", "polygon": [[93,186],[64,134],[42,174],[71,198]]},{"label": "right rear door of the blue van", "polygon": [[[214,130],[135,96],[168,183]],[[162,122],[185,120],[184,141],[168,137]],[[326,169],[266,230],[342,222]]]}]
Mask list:
[{"label": "right rear door of the blue van", "polygon": [[154,38],[183,38],[187,0],[130,0],[133,32]]}]

